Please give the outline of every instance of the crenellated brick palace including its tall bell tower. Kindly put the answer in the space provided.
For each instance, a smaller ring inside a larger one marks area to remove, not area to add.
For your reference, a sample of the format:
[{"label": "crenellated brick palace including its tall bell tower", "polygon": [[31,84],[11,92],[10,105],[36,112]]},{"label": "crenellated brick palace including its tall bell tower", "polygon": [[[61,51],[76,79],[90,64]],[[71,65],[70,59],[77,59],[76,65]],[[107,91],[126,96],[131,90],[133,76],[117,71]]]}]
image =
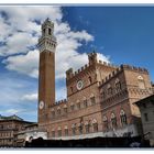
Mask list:
[{"label": "crenellated brick palace including its tall bell tower", "polygon": [[38,40],[38,129],[47,132],[50,140],[142,134],[134,102],[153,95],[148,72],[107,64],[92,52],[88,64],[66,70],[67,99],[55,102],[57,42],[53,32],[54,23],[47,19]]}]

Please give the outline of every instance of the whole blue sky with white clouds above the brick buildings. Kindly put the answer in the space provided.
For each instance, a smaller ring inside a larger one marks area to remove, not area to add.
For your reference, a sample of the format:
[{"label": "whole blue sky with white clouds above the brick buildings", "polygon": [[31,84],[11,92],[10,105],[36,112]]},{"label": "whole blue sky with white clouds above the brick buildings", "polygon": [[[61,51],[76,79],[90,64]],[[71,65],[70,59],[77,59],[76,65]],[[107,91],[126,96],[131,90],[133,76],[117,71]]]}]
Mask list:
[{"label": "whole blue sky with white clouds above the brick buildings", "polygon": [[66,98],[65,72],[87,53],[114,65],[145,67],[154,80],[154,8],[0,7],[0,114],[37,120],[41,23],[55,23],[56,100]]}]

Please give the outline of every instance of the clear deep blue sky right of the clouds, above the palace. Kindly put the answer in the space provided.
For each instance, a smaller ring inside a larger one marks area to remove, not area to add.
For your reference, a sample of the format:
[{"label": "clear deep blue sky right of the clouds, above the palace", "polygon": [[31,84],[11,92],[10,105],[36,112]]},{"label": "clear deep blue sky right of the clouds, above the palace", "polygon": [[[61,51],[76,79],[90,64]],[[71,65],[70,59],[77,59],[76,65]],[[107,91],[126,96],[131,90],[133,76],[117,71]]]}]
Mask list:
[{"label": "clear deep blue sky right of the clouds, above the palace", "polygon": [[109,55],[113,64],[146,67],[154,80],[153,7],[73,7],[64,10],[70,25],[87,29],[95,36],[92,45]]}]

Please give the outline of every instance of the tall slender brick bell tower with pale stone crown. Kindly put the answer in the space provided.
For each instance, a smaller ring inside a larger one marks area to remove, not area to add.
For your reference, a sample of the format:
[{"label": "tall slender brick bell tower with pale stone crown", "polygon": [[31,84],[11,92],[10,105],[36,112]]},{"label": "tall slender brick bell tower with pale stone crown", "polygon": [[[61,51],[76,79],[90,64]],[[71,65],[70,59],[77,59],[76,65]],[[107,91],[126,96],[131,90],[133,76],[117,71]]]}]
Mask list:
[{"label": "tall slender brick bell tower with pale stone crown", "polygon": [[55,50],[54,23],[48,19],[42,24],[38,38],[38,125],[44,125],[51,117],[51,107],[55,105]]}]

